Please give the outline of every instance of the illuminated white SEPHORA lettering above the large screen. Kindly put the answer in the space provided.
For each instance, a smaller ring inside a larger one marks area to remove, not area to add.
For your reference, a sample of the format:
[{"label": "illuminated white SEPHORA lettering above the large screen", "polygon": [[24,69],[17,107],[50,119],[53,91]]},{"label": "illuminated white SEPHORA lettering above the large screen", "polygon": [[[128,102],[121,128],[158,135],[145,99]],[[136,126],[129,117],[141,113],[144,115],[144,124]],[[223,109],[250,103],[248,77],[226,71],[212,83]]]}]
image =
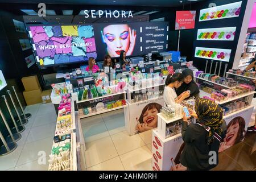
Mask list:
[{"label": "illuminated white SEPHORA lettering above the large screen", "polygon": [[96,14],[96,10],[84,10],[85,18],[101,18],[102,15],[105,15],[106,18],[133,18],[133,14],[129,11],[128,15],[126,15],[126,11],[111,11],[111,10],[98,10],[98,14]]}]

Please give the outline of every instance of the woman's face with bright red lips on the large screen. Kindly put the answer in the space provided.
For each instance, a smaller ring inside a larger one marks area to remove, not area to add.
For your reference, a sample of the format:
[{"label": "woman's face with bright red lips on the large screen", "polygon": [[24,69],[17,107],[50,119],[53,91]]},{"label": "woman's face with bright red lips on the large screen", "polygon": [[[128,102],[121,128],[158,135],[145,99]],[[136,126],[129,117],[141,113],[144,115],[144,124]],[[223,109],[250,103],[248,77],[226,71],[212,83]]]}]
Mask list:
[{"label": "woman's face with bright red lips on the large screen", "polygon": [[121,51],[127,52],[130,47],[130,32],[127,24],[112,24],[103,29],[108,54],[119,57]]}]

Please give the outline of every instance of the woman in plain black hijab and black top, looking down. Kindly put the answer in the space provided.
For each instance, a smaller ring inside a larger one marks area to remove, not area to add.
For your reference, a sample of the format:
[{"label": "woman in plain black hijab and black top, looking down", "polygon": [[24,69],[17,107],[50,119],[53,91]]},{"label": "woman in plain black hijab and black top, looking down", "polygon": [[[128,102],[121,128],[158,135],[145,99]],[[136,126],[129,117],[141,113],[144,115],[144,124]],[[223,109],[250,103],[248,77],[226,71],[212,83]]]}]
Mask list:
[{"label": "woman in plain black hijab and black top, looking down", "polygon": [[182,74],[184,75],[184,82],[179,88],[175,90],[177,96],[179,96],[187,90],[190,91],[190,95],[188,98],[193,96],[199,96],[199,88],[196,82],[194,81],[193,71],[187,68],[182,72]]}]

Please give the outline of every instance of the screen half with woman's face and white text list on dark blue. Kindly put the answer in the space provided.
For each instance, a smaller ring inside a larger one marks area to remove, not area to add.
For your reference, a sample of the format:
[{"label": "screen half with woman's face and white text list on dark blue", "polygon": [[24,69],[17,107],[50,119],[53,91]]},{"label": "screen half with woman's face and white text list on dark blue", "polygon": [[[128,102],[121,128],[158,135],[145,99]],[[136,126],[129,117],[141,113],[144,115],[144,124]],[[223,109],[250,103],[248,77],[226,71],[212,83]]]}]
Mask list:
[{"label": "screen half with woman's face and white text list on dark blue", "polygon": [[126,56],[144,53],[164,52],[168,45],[168,23],[141,22],[127,24],[95,24],[98,59],[104,55],[119,57],[121,51]]}]

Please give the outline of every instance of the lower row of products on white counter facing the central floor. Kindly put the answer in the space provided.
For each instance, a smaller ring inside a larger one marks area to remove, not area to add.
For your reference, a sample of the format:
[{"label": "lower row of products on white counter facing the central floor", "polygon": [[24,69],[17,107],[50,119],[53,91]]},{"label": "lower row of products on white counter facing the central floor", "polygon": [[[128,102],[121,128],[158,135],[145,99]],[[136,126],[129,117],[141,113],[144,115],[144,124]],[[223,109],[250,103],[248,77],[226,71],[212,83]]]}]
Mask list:
[{"label": "lower row of products on white counter facing the central floor", "polygon": [[93,107],[79,108],[79,115],[81,118],[84,115],[100,114],[104,113],[106,110],[114,110],[122,108],[123,106],[126,106],[125,100],[110,101],[106,103],[99,102],[96,106]]}]

